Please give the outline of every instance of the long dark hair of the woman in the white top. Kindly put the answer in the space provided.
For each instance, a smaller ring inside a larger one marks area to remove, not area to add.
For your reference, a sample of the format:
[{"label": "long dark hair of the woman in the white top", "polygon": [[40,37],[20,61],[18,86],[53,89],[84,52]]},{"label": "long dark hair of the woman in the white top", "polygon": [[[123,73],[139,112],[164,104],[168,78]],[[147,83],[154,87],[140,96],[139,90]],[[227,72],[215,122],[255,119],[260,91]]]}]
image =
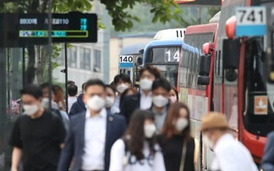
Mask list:
[{"label": "long dark hair of the woman in the white top", "polygon": [[154,120],[152,111],[149,110],[136,110],[132,115],[132,118],[129,122],[129,127],[123,136],[125,145],[129,152],[136,157],[136,159],[141,160],[145,158],[145,155],[142,153],[144,148],[144,142],[147,140],[149,142],[150,154],[154,155],[155,153],[155,135],[152,138],[147,139],[145,137],[144,125],[145,120]]}]

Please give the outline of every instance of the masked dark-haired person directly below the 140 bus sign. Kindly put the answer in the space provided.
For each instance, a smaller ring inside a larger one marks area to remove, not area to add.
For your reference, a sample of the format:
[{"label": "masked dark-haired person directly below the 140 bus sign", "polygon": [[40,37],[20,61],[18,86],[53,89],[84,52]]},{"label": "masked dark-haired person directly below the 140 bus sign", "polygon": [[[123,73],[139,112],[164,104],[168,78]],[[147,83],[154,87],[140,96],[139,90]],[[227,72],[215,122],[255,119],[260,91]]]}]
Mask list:
[{"label": "masked dark-haired person directly below the 140 bus sign", "polygon": [[132,87],[132,81],[130,80],[130,77],[128,75],[119,74],[114,77],[114,85],[118,93],[115,98],[114,106],[120,108],[121,94],[123,94],[123,92],[125,92],[127,88]]}]

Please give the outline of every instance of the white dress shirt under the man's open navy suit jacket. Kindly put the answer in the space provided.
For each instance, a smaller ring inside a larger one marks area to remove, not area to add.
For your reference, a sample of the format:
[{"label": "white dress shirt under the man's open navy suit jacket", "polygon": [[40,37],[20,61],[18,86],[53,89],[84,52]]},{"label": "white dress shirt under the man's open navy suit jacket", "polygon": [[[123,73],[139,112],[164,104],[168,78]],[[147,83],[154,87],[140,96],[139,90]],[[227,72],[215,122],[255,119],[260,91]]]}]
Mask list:
[{"label": "white dress shirt under the man's open navy suit jacket", "polygon": [[105,109],[97,116],[90,116],[90,111],[86,111],[82,170],[104,170],[106,118]]}]

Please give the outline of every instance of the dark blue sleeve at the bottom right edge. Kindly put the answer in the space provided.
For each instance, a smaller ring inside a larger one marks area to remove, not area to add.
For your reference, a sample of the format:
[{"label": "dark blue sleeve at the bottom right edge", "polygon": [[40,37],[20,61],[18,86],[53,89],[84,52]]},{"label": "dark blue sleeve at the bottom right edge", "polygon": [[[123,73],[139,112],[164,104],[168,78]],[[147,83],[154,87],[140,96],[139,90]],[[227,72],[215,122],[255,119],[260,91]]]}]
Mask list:
[{"label": "dark blue sleeve at the bottom right edge", "polygon": [[274,170],[274,132],[267,136],[266,145],[264,147],[264,156],[262,157],[262,170]]}]

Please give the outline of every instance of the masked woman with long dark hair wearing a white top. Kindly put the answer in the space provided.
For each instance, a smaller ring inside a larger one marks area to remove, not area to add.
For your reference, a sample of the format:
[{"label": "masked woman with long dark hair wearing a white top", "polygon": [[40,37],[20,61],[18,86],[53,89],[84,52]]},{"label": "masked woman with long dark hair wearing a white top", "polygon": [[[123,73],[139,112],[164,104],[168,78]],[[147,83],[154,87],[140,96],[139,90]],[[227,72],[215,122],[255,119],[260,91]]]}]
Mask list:
[{"label": "masked woman with long dark hair wearing a white top", "polygon": [[117,140],[110,154],[110,171],[164,171],[164,159],[155,142],[153,113],[134,112],[125,135]]}]

